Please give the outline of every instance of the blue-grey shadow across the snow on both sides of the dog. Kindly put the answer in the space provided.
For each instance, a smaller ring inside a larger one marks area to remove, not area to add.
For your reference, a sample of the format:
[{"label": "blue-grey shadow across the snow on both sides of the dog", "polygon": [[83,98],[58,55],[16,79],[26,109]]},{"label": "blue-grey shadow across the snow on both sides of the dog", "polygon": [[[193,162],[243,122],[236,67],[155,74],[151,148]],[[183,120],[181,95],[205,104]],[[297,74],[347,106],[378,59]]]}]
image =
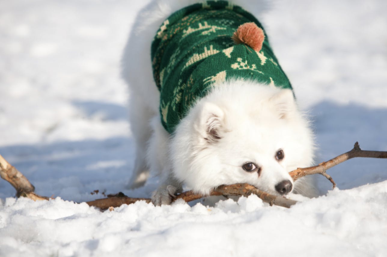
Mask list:
[{"label": "blue-grey shadow across the snow on both sides of the dog", "polygon": [[[101,112],[107,119],[126,117],[123,107],[94,102],[78,102],[76,105],[90,116]],[[317,163],[350,150],[355,141],[359,141],[364,150],[387,150],[386,109],[321,102],[312,108],[311,115],[318,143]],[[41,195],[75,201],[92,200],[103,197],[90,195],[90,192],[99,190],[149,197],[156,186],[154,181],[137,190],[125,189],[134,163],[133,144],[131,138],[116,137],[6,146],[0,147],[0,154],[19,169]],[[376,183],[387,179],[387,160],[353,159],[328,173],[340,189]],[[330,183],[319,177],[319,187],[326,192]],[[0,198],[14,193],[12,186],[1,180]]]}]

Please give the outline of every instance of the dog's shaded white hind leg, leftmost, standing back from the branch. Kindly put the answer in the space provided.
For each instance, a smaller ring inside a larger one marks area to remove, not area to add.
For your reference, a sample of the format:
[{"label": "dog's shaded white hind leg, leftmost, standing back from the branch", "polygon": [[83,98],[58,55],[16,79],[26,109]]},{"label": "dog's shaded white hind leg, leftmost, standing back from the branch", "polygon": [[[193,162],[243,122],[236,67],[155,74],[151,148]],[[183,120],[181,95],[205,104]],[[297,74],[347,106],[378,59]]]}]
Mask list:
[{"label": "dog's shaded white hind leg, leftmost, standing back from the branch", "polygon": [[138,96],[130,97],[129,115],[130,128],[135,138],[135,163],[132,176],[127,188],[134,189],[143,186],[149,176],[149,167],[146,162],[147,142],[151,136],[149,121],[153,113]]}]

